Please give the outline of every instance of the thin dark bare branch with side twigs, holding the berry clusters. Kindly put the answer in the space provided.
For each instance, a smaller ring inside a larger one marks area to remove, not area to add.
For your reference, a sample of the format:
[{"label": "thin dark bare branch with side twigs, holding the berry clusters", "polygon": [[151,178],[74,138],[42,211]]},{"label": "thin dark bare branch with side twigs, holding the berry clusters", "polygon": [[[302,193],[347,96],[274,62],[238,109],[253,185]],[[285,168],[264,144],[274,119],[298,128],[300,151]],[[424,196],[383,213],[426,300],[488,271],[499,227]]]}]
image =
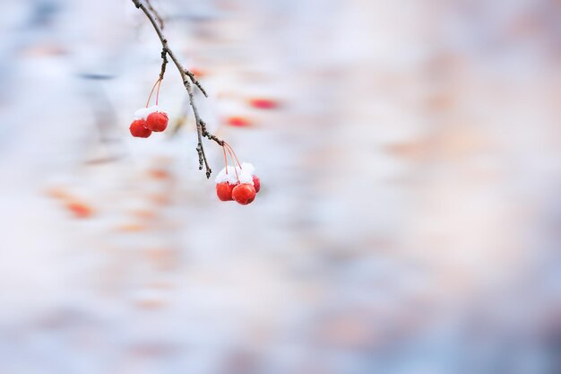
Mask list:
[{"label": "thin dark bare branch with side twigs, holding the berry clusters", "polygon": [[183,67],[183,65],[181,65],[181,63],[177,59],[176,55],[169,48],[168,39],[166,39],[166,37],[164,36],[163,31],[162,31],[163,22],[161,21],[160,14],[158,14],[154,10],[154,8],[151,6],[151,4],[148,0],[144,0],[146,2],[146,4],[148,5],[148,7],[144,4],[142,4],[141,0],[132,0],[132,1],[134,3],[134,6],[136,6],[137,8],[142,10],[142,12],[144,14],[146,14],[146,17],[148,17],[148,19],[150,20],[154,30],[156,30],[156,33],[158,34],[158,38],[160,38],[160,41],[161,41],[161,58],[162,58],[160,79],[163,79],[164,74],[166,73],[166,65],[168,65],[168,56],[169,56],[169,58],[171,58],[171,61],[173,61],[174,65],[176,65],[177,70],[179,71],[179,74],[181,75],[183,85],[185,86],[185,88],[186,88],[186,90],[189,94],[189,103],[191,104],[191,108],[193,109],[194,120],[195,120],[196,127],[197,127],[197,147],[196,147],[196,151],[197,151],[197,154],[199,155],[199,170],[203,170],[203,167],[204,167],[205,172],[206,172],[206,178],[211,178],[212,170],[209,167],[208,161],[206,160],[206,154],[204,153],[203,137],[211,139],[211,140],[213,140],[214,142],[216,142],[217,144],[220,144],[220,145],[223,145],[224,141],[220,140],[218,137],[216,137],[215,135],[212,135],[211,133],[209,133],[206,130],[206,125],[203,122],[203,120],[201,119],[201,117],[199,116],[199,110],[197,109],[196,104],[194,102],[194,91],[193,91],[192,84],[197,86],[197,88],[201,92],[203,92],[203,95],[205,97],[207,97],[206,91],[204,91],[201,83],[199,83],[199,81],[197,81],[195,79],[194,74],[191,73],[190,71],[188,71],[185,67]]}]

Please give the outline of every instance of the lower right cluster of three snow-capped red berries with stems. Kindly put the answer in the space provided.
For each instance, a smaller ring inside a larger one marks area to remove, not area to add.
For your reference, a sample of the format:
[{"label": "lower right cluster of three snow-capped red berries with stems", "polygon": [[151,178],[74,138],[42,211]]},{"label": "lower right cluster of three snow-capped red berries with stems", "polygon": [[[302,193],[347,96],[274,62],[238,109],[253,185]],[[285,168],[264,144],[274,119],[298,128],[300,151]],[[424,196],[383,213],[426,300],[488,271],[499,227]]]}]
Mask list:
[{"label": "lower right cluster of three snow-capped red berries with stems", "polygon": [[[254,166],[247,162],[240,164],[237,160],[236,153],[234,153],[226,142],[224,142],[222,150],[224,151],[226,167],[220,171],[215,179],[216,195],[220,201],[234,200],[242,205],[252,203],[255,200],[255,195],[261,189],[261,181],[255,175]],[[237,166],[228,165],[226,158],[227,150],[232,160],[234,157],[236,158]]]}]

